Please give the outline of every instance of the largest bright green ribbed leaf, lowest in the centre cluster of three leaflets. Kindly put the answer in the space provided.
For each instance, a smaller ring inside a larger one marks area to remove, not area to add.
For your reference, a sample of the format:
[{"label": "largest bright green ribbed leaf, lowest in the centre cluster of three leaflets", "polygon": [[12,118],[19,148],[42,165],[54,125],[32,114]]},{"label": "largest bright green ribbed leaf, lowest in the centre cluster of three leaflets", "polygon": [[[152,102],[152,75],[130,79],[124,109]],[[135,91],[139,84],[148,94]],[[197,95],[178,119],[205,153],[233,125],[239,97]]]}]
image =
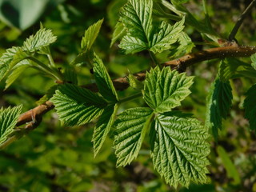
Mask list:
[{"label": "largest bright green ribbed leaf, lowest in the centre cluster of three leaflets", "polygon": [[180,112],[158,114],[150,130],[151,157],[154,169],[171,186],[189,186],[206,182],[206,158],[210,154],[207,129]]}]

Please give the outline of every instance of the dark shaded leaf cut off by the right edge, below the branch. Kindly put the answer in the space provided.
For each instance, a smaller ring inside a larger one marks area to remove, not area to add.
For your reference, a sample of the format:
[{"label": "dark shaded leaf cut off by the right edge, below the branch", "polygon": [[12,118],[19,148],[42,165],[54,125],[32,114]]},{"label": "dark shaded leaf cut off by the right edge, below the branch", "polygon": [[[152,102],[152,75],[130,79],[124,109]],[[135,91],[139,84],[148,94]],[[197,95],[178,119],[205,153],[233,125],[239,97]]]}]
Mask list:
[{"label": "dark shaded leaf cut off by the right edge, below the branch", "polygon": [[249,119],[250,130],[256,131],[256,85],[251,86],[246,93],[246,99],[243,103],[245,108],[245,117]]}]

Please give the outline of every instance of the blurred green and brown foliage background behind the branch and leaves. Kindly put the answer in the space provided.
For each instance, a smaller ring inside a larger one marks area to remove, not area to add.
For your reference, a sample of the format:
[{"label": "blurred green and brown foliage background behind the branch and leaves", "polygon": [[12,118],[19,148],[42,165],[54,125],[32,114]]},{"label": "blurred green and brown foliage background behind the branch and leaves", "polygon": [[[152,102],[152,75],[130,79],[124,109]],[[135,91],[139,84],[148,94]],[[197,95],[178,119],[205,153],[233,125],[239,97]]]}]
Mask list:
[{"label": "blurred green and brown foliage background behind the branch and leaves", "polygon": [[[22,46],[22,42],[34,34],[40,22],[58,36],[51,46],[54,61],[66,66],[78,54],[82,35],[86,28],[104,18],[100,34],[94,43],[94,50],[104,61],[112,78],[146,70],[150,56],[141,54],[124,55],[118,43],[110,48],[111,35],[118,21],[118,10],[125,0],[0,0],[0,54],[11,46]],[[207,1],[214,30],[227,38],[238,16],[250,1]],[[185,6],[199,20],[204,17],[202,1],[190,0]],[[254,46],[256,42],[256,14],[246,18],[239,30],[238,42]],[[194,28],[186,26],[186,32],[198,43],[194,51],[209,48]],[[162,62],[166,54],[158,55]],[[244,59],[250,62],[249,59]],[[218,62],[207,61],[191,66],[188,74],[195,75],[192,94],[182,102],[181,110],[193,113],[204,122],[206,97],[210,82],[217,74]],[[91,82],[90,68],[79,66],[79,85]],[[256,191],[256,137],[250,132],[248,122],[243,118],[242,102],[254,79],[239,78],[231,82],[233,87],[233,108],[230,117],[223,122],[218,143],[210,141],[211,154],[209,183],[191,184],[189,189],[178,187],[177,191]],[[0,84],[0,106],[23,104],[23,111],[36,106],[36,101],[46,93],[54,82],[35,70],[26,70],[9,89]],[[133,89],[118,92],[126,97]],[[120,107],[142,106],[142,100],[134,100]],[[0,191],[12,192],[147,192],[176,191],[167,186],[154,171],[150,160],[149,142],[144,142],[138,158],[124,168],[116,168],[112,149],[113,139],[106,139],[96,158],[92,150],[92,124],[86,126],[63,126],[58,122],[54,110],[43,117],[38,128],[26,137],[0,151]]]}]

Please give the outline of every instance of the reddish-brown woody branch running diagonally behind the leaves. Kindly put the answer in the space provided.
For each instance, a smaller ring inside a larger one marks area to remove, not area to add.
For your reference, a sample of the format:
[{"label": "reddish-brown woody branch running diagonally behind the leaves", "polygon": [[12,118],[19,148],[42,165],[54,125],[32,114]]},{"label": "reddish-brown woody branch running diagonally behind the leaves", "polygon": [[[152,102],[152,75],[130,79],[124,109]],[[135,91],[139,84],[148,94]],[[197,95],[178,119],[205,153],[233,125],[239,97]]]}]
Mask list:
[{"label": "reddish-brown woody branch running diagonally behind the leaves", "polygon": [[[186,54],[181,58],[162,63],[162,66],[170,66],[171,68],[178,69],[180,71],[185,70],[187,66],[191,66],[197,62],[202,62],[214,58],[250,57],[251,54],[255,53],[256,47],[254,46],[238,46],[236,43],[234,43],[231,46],[211,48],[208,50],[198,51],[194,54]],[[139,81],[143,81],[146,78],[146,71],[134,74],[134,76]],[[116,90],[126,90],[129,87],[129,82],[127,81],[126,77],[116,78],[113,80],[113,83]],[[85,87],[86,89],[92,90],[94,92],[98,91],[95,83],[88,84],[82,87]],[[52,102],[46,102],[40,106],[35,107],[32,110],[26,111],[24,114],[20,115],[16,126],[21,126],[25,123],[30,122],[27,128],[31,129],[32,126],[34,129],[39,125],[38,122],[41,121],[42,115],[46,114],[46,112],[52,109],[54,109],[54,104]]]}]

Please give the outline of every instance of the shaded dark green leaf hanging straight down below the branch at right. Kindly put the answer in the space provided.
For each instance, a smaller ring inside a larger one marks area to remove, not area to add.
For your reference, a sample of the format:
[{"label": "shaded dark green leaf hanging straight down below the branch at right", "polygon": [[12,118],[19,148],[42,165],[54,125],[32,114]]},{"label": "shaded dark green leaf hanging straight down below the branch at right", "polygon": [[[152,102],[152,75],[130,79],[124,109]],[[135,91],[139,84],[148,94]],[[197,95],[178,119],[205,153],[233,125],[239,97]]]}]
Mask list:
[{"label": "shaded dark green leaf hanging straight down below the branch at right", "polygon": [[230,112],[232,98],[230,82],[216,78],[210,88],[206,111],[206,126],[211,128],[215,139],[218,138],[218,129],[222,129],[222,118],[226,119]]}]

